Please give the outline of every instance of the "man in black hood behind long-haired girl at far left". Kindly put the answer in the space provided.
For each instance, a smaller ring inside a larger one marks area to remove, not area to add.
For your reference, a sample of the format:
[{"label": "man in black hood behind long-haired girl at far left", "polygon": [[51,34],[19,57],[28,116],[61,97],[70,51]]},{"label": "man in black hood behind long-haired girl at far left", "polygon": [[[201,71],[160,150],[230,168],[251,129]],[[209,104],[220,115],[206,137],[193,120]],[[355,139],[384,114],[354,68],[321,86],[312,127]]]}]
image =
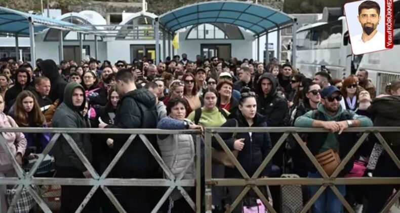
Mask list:
[{"label": "man in black hood behind long-haired girl at far left", "polygon": [[6,101],[6,109],[4,112],[8,112],[10,110],[11,106],[15,102],[15,98],[17,98],[20,92],[22,92],[23,90],[34,90],[33,87],[29,86],[30,75],[25,67],[20,67],[17,69],[14,82],[15,85],[8,89],[6,94],[4,95],[4,101]]}]

